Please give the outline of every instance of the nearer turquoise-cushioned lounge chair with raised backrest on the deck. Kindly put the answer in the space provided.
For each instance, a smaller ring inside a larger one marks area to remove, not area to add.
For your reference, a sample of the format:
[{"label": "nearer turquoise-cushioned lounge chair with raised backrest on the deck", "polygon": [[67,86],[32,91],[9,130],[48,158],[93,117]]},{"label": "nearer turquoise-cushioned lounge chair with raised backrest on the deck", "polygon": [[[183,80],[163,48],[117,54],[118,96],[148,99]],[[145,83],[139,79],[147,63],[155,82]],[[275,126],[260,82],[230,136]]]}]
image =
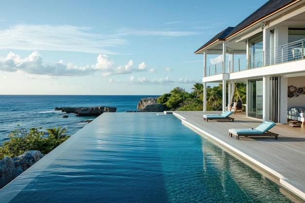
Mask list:
[{"label": "nearer turquoise-cushioned lounge chair with raised backrest on the deck", "polygon": [[273,126],[274,122],[265,121],[255,129],[229,129],[229,136],[236,135],[236,139],[239,140],[240,136],[250,137],[250,136],[274,136],[277,140],[278,134],[268,131]]}]

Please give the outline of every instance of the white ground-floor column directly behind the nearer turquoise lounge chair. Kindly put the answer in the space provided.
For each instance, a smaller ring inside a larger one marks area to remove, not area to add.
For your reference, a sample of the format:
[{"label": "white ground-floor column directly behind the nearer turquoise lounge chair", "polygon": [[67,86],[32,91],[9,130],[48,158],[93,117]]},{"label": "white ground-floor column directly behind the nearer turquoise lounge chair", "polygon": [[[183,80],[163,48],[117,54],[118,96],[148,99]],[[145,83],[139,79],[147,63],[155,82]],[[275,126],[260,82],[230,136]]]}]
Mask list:
[{"label": "white ground-floor column directly behind the nearer turquoise lounge chair", "polygon": [[263,122],[270,120],[270,77],[263,76]]}]

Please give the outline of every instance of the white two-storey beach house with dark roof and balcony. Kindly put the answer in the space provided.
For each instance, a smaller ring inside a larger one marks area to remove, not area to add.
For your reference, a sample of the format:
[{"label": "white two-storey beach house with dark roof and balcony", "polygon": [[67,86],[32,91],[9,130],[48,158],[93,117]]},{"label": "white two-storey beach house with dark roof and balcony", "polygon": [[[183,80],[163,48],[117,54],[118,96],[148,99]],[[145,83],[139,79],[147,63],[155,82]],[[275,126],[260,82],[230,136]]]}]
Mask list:
[{"label": "white two-storey beach house with dark roof and balcony", "polygon": [[[204,101],[207,84],[222,83],[226,111],[234,84],[243,82],[247,116],[276,123],[287,123],[287,118],[303,121],[302,112],[295,115],[288,110],[305,107],[304,48],[305,0],[269,0],[195,51],[204,58]],[[222,62],[209,66],[208,57],[217,56]]]}]

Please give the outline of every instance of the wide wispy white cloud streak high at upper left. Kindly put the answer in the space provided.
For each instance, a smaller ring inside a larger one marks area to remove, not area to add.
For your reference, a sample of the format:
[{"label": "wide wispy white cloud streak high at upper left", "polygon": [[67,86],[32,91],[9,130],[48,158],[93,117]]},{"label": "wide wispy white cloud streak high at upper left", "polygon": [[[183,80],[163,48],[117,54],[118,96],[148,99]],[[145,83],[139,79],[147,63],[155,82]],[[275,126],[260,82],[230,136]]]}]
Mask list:
[{"label": "wide wispy white cloud streak high at upper left", "polygon": [[1,49],[117,54],[107,49],[128,44],[115,34],[100,35],[90,31],[90,27],[71,25],[16,24],[0,30]]}]

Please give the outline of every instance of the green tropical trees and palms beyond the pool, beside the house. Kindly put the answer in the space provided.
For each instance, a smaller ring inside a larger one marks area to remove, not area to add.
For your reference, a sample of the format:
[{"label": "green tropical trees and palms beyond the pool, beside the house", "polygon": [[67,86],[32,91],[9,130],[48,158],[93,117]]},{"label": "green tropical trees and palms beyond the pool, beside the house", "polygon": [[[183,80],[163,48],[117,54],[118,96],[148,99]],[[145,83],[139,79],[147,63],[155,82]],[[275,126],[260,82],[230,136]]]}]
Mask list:
[{"label": "green tropical trees and palms beyond the pool, beside the house", "polygon": [[[246,103],[246,84],[235,83],[237,91],[234,91],[233,98],[227,98],[229,103],[238,100],[238,94],[242,103]],[[195,83],[192,92],[176,87],[170,93],[165,93],[157,99],[157,103],[166,106],[168,111],[203,111],[203,84]],[[228,92],[228,89],[226,90]],[[228,95],[228,94],[227,94]],[[207,87],[207,111],[222,109],[222,84]]]}]

